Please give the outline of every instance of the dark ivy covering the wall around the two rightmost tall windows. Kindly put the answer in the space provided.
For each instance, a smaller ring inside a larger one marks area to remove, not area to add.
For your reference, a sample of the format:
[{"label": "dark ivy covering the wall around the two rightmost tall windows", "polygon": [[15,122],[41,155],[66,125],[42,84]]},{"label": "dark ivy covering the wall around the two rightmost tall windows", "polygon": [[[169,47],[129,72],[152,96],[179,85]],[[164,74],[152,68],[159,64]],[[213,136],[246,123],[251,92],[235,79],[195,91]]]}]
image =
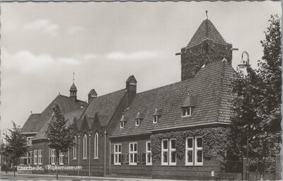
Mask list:
[{"label": "dark ivy covering the wall around the two rightmost tall windows", "polygon": [[176,139],[176,156],[185,156],[185,138],[187,136],[202,136],[203,156],[206,159],[216,157],[223,160],[230,129],[225,127],[197,128],[187,131],[174,131],[151,135],[151,153],[153,161],[161,159],[162,139]]}]

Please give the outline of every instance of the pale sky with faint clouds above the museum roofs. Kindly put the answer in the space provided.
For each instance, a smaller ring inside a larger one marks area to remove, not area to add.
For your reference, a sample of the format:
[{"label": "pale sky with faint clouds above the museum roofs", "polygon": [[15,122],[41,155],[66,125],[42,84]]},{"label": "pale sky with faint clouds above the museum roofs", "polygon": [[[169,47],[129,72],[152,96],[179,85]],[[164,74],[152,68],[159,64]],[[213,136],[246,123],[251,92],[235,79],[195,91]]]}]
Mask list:
[{"label": "pale sky with faint clouds above the museum roofs", "polygon": [[263,2],[1,3],[0,129],[23,126],[57,95],[69,95],[75,73],[78,98],[125,88],[137,92],[180,81],[180,52],[208,18],[232,43],[232,65],[243,51],[256,68],[271,14]]}]

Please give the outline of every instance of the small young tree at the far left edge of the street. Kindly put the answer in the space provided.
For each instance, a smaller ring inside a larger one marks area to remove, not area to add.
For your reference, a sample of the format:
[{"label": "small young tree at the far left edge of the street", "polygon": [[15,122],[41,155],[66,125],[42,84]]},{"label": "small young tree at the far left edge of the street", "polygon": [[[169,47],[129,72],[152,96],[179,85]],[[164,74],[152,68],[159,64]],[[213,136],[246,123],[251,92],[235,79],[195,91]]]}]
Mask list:
[{"label": "small young tree at the far left edge of the street", "polygon": [[8,153],[8,157],[11,158],[13,176],[16,177],[16,164],[18,163],[18,159],[26,153],[27,146],[25,145],[25,136],[21,133],[21,127],[17,126],[15,122],[13,122],[13,129],[8,129],[8,131],[9,134],[5,135],[5,151]]}]

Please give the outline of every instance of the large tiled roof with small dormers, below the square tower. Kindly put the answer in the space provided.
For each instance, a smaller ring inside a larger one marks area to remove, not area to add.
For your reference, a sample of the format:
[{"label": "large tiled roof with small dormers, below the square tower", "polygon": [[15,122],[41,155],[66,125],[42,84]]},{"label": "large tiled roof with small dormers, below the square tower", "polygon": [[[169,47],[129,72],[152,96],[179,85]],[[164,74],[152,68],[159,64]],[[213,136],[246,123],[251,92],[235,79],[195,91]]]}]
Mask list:
[{"label": "large tiled roof with small dormers, below the square tower", "polygon": [[[234,71],[227,62],[216,61],[205,65],[195,78],[137,93],[132,105],[125,111],[129,121],[115,127],[112,136],[146,134],[151,130],[170,129],[212,122],[231,122],[231,87]],[[190,117],[181,117],[181,107],[190,94],[196,96],[197,103]],[[161,110],[157,124],[153,124],[156,107]],[[139,126],[135,126],[137,110],[144,114]]]}]

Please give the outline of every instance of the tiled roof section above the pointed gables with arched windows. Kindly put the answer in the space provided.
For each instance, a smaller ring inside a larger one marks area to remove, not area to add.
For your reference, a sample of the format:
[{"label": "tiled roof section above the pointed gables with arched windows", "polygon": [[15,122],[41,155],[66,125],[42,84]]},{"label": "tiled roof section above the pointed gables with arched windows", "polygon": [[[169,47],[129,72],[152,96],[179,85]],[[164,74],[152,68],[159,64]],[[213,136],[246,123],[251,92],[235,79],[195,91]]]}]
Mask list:
[{"label": "tiled roof section above the pointed gables with arched windows", "polygon": [[[106,126],[110,122],[122,98],[124,98],[125,93],[126,89],[122,89],[93,99],[83,114],[88,117],[88,124],[91,125],[93,118],[97,115],[100,124]],[[82,120],[79,120],[79,125],[81,125]]]}]

